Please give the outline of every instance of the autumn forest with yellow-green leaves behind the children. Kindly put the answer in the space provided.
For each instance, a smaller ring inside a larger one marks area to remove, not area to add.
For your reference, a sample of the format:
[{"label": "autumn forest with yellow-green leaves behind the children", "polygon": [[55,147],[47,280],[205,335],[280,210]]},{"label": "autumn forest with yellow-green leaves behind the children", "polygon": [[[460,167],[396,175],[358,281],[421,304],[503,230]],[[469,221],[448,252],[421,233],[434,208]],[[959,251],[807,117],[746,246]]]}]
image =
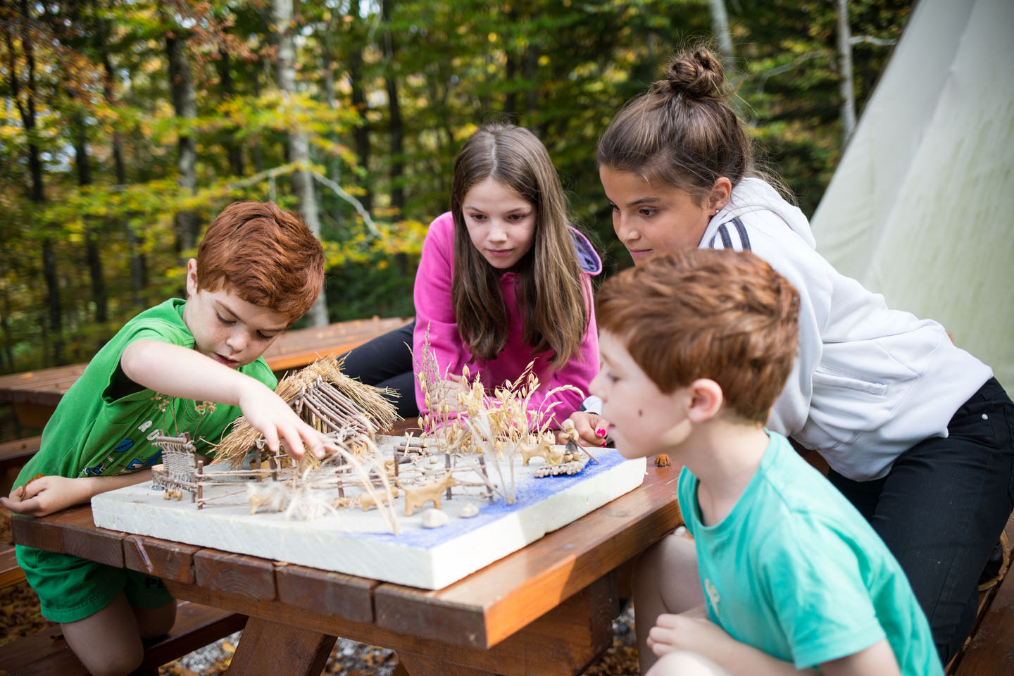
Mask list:
[{"label": "autumn forest with yellow-green leaves behind the children", "polygon": [[914,0],[6,0],[0,373],[87,361],[240,199],[328,254],[300,325],[414,314],[451,165],[487,121],[549,148],[608,270],[594,165],[615,111],[710,41],[767,164],[811,215]]}]

